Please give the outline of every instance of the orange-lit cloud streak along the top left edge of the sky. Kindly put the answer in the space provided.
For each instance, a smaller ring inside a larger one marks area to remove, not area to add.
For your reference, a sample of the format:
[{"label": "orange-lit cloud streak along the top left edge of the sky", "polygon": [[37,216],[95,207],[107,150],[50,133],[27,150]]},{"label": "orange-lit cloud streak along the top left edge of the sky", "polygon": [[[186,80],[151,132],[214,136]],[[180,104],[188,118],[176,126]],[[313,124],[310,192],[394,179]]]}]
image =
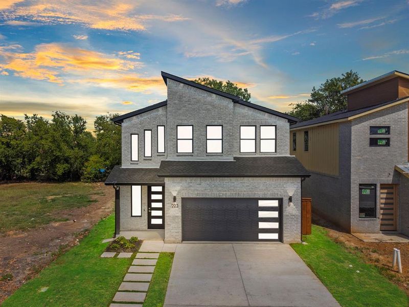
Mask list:
[{"label": "orange-lit cloud streak along the top left edge of the sky", "polygon": [[[11,0],[7,0],[11,1]],[[93,29],[143,31],[146,21],[161,20],[166,22],[187,20],[180,15],[138,15],[138,3],[134,1],[98,2],[88,4],[81,0],[60,0],[55,2],[36,0],[27,6],[14,7],[4,5],[8,9],[7,18],[30,18],[43,24],[78,23]]]}]

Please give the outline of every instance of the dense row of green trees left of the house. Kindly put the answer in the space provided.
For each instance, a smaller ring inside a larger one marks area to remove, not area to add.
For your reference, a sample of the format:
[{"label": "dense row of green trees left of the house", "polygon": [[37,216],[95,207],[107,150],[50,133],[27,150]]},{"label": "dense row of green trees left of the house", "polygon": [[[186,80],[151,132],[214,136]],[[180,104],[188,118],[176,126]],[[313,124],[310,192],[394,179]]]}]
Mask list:
[{"label": "dense row of green trees left of the house", "polygon": [[[78,115],[57,111],[51,120],[34,114],[24,121],[1,115],[0,180],[104,179],[121,160],[121,127],[111,116],[96,118],[94,136]],[[105,173],[93,174],[96,167]]]}]

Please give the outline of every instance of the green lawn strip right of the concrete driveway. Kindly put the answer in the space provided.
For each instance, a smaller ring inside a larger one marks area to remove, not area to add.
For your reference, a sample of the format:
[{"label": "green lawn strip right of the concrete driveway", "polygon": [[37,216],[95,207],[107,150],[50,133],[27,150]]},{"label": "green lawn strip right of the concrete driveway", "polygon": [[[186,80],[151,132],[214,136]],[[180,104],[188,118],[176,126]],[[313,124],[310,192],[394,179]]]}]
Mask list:
[{"label": "green lawn strip right of the concrete driveway", "polygon": [[408,305],[404,291],[375,266],[333,242],[324,228],[313,225],[304,240],[308,245],[292,244],[292,248],[343,307]]}]

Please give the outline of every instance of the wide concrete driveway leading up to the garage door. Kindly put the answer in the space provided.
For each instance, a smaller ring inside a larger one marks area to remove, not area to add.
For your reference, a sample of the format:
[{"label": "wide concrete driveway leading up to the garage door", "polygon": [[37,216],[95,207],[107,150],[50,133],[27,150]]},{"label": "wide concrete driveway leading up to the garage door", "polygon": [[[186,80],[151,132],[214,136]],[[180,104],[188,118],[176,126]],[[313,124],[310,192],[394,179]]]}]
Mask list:
[{"label": "wide concrete driveway leading up to the garage door", "polygon": [[178,244],[165,306],[339,304],[284,244]]}]

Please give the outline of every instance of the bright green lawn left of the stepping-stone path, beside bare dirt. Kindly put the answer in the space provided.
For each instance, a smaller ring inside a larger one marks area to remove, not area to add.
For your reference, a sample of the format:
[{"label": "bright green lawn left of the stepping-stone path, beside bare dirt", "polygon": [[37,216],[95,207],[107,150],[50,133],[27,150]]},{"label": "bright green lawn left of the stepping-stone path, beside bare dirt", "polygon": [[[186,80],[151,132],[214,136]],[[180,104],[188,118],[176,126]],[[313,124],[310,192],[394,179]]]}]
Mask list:
[{"label": "bright green lawn left of the stepping-stone path, beside bare dirt", "polygon": [[131,258],[100,258],[108,245],[101,244],[101,240],[110,237],[113,228],[112,214],[90,230],[78,246],[21,286],[2,306],[108,306],[131,263]]}]

